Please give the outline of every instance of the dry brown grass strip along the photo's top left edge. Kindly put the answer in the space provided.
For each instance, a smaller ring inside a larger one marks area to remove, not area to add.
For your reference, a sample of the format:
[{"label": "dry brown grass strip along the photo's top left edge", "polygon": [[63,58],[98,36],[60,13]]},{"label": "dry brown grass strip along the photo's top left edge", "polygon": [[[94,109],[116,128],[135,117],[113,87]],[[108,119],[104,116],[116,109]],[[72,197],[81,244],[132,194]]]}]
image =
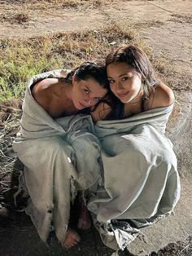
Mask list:
[{"label": "dry brown grass strip along the photo's top left edge", "polygon": [[[40,15],[59,15],[58,11],[83,11],[101,9],[114,0],[19,0],[2,2],[0,21],[11,24],[33,25]],[[53,11],[55,10],[55,11]]]}]

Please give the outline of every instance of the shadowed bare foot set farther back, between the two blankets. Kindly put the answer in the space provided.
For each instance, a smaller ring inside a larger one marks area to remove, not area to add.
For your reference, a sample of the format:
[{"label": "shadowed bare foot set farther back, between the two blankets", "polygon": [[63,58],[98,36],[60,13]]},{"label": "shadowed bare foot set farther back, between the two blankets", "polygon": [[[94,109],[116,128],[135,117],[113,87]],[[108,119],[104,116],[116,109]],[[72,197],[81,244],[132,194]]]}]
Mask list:
[{"label": "shadowed bare foot set farther back, between the two blankets", "polygon": [[80,217],[78,219],[77,227],[81,229],[89,229],[91,226],[91,219],[89,211],[85,207],[85,203],[82,200],[80,205]]}]

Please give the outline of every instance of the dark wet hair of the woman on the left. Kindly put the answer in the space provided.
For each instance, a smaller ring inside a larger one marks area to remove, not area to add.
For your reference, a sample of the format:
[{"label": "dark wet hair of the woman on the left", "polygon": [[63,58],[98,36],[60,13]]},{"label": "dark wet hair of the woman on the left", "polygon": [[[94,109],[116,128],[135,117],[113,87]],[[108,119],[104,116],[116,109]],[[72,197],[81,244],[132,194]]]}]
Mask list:
[{"label": "dark wet hair of the woman on the left", "polygon": [[65,77],[66,82],[72,82],[72,77],[76,76],[76,80],[94,79],[105,89],[109,89],[109,82],[107,79],[107,72],[105,65],[100,61],[86,61],[81,64],[78,68],[72,69]]}]

